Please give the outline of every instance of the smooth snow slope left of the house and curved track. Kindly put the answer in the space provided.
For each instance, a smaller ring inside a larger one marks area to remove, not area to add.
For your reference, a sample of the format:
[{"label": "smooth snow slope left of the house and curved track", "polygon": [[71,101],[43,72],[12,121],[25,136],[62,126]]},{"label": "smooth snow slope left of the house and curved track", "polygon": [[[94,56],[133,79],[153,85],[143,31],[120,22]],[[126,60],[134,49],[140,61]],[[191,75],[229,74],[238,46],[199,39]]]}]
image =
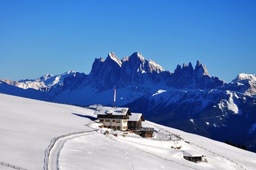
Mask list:
[{"label": "smooth snow slope left of the house and curved track", "polygon": [[43,169],[53,138],[89,130],[84,124],[90,120],[76,114],[93,116],[85,108],[0,94],[0,161]]}]

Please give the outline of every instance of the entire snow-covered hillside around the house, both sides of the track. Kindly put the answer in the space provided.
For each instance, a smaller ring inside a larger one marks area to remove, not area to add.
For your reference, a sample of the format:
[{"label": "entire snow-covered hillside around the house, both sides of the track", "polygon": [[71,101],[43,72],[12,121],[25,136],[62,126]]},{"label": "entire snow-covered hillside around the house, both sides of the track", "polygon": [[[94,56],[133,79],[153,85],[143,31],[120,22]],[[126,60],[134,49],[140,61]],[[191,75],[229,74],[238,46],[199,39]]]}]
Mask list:
[{"label": "entire snow-covered hillside around the house, both sides of the track", "polygon": [[[44,151],[51,140],[63,134],[90,130],[84,125],[92,121],[82,116],[94,116],[93,113],[90,109],[71,105],[0,94],[0,162],[43,169]],[[184,141],[232,159],[246,169],[256,169],[253,152],[148,121],[143,122],[143,126],[179,134]],[[160,131],[157,137],[161,137]],[[59,153],[57,166],[59,169],[242,169],[184,141],[153,141],[111,134],[107,137],[101,133],[78,135],[57,143],[60,145],[55,147]],[[180,149],[171,148],[180,146]],[[183,151],[205,155],[208,163],[188,162],[183,158]],[[0,165],[0,169],[11,168]]]}]

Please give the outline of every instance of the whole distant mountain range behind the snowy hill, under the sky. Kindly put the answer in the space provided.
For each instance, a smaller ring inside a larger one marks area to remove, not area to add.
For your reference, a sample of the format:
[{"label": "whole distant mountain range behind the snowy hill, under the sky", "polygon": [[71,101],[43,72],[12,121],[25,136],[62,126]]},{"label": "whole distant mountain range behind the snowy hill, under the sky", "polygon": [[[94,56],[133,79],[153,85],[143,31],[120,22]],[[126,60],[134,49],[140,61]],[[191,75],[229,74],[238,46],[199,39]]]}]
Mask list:
[{"label": "whole distant mountain range behind the snowy hill, under the sky", "polygon": [[218,141],[256,149],[256,76],[240,74],[231,83],[209,76],[199,61],[177,65],[174,73],[135,52],[96,58],[88,75],[68,71],[18,82],[0,79],[0,92],[61,103],[113,104],[142,112],[148,120]]}]

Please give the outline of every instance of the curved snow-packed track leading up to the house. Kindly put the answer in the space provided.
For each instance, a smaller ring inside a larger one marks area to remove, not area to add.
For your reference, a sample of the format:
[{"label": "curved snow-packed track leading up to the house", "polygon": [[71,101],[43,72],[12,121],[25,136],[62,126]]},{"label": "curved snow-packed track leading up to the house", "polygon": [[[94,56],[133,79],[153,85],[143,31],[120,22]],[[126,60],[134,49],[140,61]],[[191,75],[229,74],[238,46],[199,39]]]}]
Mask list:
[{"label": "curved snow-packed track leading up to the house", "polygon": [[72,135],[77,135],[77,134],[91,133],[93,131],[97,131],[97,130],[79,131],[79,132],[69,133],[69,134],[65,134],[65,135],[61,135],[59,137],[53,138],[51,143],[49,144],[48,148],[45,151],[44,170],[49,170],[49,155],[50,155],[50,152],[51,152],[52,148],[54,147],[55,143],[59,139],[62,139],[62,138],[65,138],[65,137],[70,137]]}]

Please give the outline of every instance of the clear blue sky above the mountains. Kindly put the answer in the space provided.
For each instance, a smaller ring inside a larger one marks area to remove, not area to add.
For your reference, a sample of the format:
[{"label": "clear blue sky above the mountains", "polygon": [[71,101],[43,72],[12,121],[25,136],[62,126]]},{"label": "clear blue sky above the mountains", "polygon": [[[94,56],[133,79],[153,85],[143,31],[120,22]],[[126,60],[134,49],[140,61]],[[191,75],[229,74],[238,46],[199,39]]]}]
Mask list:
[{"label": "clear blue sky above the mountains", "polygon": [[0,1],[0,78],[76,70],[139,51],[169,71],[198,60],[226,82],[256,74],[256,1]]}]

